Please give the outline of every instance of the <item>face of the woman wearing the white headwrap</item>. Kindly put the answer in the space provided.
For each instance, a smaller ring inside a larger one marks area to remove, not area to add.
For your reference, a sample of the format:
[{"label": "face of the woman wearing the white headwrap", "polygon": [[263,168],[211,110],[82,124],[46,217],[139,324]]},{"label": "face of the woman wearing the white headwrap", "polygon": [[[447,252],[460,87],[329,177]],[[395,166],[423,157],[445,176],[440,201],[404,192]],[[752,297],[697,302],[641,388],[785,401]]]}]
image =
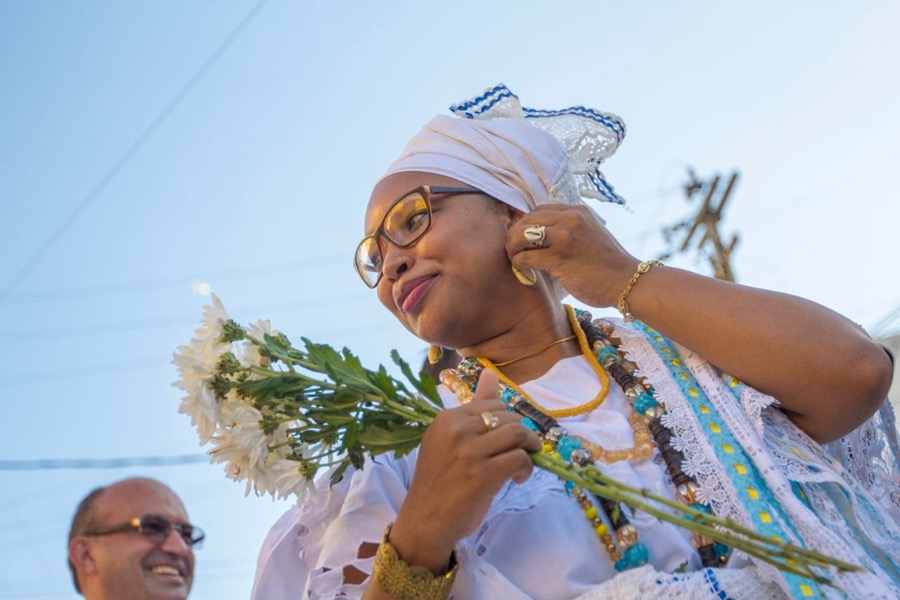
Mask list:
[{"label": "face of the woman wearing the white headwrap", "polygon": [[[469,187],[428,173],[397,173],[382,180],[366,211],[366,234],[399,198],[422,185]],[[398,248],[380,240],[384,275],[378,299],[417,337],[464,348],[499,335],[521,299],[510,269],[506,233],[519,214],[484,194],[435,195],[431,228]],[[496,310],[500,308],[501,310]]]}]

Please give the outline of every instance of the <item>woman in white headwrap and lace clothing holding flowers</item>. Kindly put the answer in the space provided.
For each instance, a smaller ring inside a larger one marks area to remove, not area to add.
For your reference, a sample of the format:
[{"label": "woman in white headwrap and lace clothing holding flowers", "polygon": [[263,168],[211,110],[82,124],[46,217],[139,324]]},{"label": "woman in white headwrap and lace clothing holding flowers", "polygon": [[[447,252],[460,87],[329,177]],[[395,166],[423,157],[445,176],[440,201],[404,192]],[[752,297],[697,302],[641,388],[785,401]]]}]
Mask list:
[{"label": "woman in white headwrap and lace clothing holding flowers", "polygon": [[[900,594],[896,466],[858,454],[891,451],[883,349],[814,303],[629,255],[582,203],[620,201],[597,168],[617,117],[522,109],[504,86],[452,110],[375,186],[356,266],[404,327],[472,359],[443,378],[463,402],[442,389],[416,453],[287,515],[256,595],[291,577],[310,597],[837,593],[533,471],[553,425],[617,479],[862,564],[837,578],[851,596]],[[865,481],[819,445],[841,438]]]}]

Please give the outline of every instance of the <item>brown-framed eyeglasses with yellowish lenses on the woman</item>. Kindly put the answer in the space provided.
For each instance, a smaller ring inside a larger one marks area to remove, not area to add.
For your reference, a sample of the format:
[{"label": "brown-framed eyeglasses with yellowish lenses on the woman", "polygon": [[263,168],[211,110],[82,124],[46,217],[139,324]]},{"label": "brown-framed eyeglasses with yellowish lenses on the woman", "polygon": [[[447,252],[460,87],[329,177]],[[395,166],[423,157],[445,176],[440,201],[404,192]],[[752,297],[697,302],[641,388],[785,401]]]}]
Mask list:
[{"label": "brown-framed eyeglasses with yellowish lenses on the woman", "polygon": [[356,248],[353,266],[363,282],[374,288],[384,273],[384,255],[379,238],[384,237],[398,248],[408,248],[431,227],[431,197],[435,194],[481,194],[481,190],[461,187],[423,185],[409,192],[391,206],[381,225],[363,238]]}]

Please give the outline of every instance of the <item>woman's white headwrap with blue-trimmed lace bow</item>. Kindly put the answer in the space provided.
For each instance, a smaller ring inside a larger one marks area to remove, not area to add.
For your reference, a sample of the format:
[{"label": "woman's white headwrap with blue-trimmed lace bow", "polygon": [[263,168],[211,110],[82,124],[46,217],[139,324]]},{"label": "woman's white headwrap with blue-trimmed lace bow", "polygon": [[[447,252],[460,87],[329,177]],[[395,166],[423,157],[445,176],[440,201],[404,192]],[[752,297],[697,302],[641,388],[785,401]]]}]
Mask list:
[{"label": "woman's white headwrap with blue-trimmed lace bow", "polygon": [[587,199],[625,203],[600,171],[625,137],[616,115],[582,106],[523,108],[503,84],[450,111],[457,117],[429,121],[384,177],[408,171],[452,177],[523,212]]}]

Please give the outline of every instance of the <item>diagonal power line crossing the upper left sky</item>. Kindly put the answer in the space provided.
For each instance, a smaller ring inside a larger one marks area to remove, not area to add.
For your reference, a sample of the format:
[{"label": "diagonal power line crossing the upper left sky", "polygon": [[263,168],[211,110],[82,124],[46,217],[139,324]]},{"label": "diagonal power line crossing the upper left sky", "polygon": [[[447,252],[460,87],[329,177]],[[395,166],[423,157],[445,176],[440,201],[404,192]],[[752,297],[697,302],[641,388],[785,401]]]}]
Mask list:
[{"label": "diagonal power line crossing the upper left sky", "polygon": [[137,154],[138,150],[140,150],[147,140],[156,132],[156,130],[160,127],[160,125],[165,122],[165,120],[175,111],[178,105],[187,97],[187,95],[194,89],[197,83],[203,78],[204,75],[212,68],[212,66],[221,58],[221,56],[225,53],[225,50],[231,46],[232,43],[238,38],[238,36],[246,29],[246,27],[250,24],[251,21],[259,14],[262,7],[268,0],[259,0],[256,5],[250,10],[249,13],[237,24],[237,26],[231,30],[225,40],[219,44],[219,47],[215,49],[215,51],[210,55],[209,58],[200,66],[200,68],[194,73],[194,75],[188,80],[188,82],[175,94],[175,97],[172,98],[169,103],[162,109],[162,111],[154,118],[150,124],[144,129],[144,131],[137,137],[137,139],[132,142],[131,146],[128,147],[127,150],[119,157],[119,159],[113,163],[113,165],[106,171],[106,173],[100,178],[94,188],[88,192],[88,194],[81,199],[75,209],[69,213],[69,216],[65,218],[65,220],[53,231],[50,236],[44,241],[43,244],[31,255],[31,258],[19,269],[19,271],[13,275],[9,281],[6,282],[6,285],[3,286],[3,289],[0,290],[0,302],[2,302],[10,290],[12,290],[18,283],[27,275],[31,269],[37,265],[45,254],[56,244],[56,242],[65,234],[66,231],[78,220],[78,218],[87,210],[88,206],[90,206],[106,189],[106,187],[115,179],[116,175],[125,168],[128,163],[131,162],[131,159]]}]

